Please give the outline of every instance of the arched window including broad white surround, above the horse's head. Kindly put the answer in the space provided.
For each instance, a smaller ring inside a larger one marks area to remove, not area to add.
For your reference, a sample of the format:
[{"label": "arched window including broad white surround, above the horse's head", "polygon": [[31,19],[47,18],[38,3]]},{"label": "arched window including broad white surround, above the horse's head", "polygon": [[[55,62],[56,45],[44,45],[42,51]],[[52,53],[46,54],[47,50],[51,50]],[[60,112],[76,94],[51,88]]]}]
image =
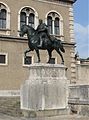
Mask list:
[{"label": "arched window including broad white surround, above the horse's head", "polygon": [[37,28],[39,17],[37,11],[31,6],[24,6],[18,12],[18,36],[22,24]]}]

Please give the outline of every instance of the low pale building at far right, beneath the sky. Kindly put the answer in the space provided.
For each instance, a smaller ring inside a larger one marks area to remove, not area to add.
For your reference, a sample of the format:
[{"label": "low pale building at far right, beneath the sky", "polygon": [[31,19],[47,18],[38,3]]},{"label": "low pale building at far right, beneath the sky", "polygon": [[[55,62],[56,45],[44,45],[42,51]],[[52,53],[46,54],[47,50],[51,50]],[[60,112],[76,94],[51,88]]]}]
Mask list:
[{"label": "low pale building at far right, beneath the sky", "polygon": [[89,85],[89,58],[76,61],[76,79],[78,85]]}]

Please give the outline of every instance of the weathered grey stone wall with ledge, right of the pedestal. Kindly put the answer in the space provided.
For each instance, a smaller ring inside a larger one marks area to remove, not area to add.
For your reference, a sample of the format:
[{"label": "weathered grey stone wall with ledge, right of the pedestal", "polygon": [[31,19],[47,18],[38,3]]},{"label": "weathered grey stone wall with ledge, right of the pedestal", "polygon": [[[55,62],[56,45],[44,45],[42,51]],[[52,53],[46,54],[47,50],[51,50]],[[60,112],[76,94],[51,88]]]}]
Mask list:
[{"label": "weathered grey stone wall with ledge, right of the pedestal", "polygon": [[89,116],[89,85],[69,87],[69,105],[72,113]]}]

